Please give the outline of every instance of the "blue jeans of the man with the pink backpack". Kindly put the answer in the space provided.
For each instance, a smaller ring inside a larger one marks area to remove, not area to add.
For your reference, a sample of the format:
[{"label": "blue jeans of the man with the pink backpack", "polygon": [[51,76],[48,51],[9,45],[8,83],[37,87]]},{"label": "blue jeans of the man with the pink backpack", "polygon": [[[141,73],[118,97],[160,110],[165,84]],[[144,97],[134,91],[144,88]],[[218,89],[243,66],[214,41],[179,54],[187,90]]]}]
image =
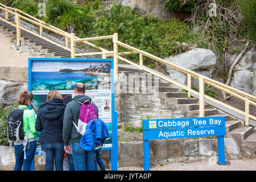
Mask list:
[{"label": "blue jeans of the man with the pink backpack", "polygon": [[94,171],[94,151],[85,151],[80,143],[72,143],[72,155],[76,171]]}]

